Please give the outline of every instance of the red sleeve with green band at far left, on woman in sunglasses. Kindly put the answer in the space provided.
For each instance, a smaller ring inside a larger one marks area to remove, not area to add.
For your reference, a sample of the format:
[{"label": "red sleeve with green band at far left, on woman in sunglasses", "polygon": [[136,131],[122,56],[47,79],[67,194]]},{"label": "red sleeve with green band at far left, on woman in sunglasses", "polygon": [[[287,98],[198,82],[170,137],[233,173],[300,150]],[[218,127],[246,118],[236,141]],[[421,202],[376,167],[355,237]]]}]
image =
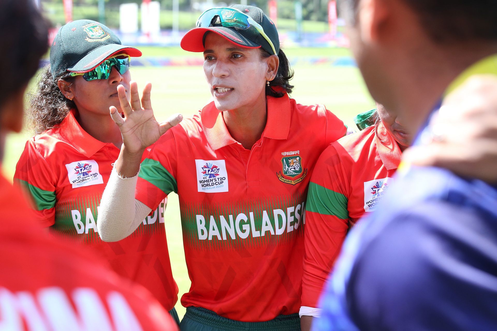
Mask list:
[{"label": "red sleeve with green band at far left, on woman in sunglasses", "polygon": [[56,183],[53,171],[36,148],[34,139],[29,139],[15,166],[14,186],[28,196],[42,226],[55,223]]}]

